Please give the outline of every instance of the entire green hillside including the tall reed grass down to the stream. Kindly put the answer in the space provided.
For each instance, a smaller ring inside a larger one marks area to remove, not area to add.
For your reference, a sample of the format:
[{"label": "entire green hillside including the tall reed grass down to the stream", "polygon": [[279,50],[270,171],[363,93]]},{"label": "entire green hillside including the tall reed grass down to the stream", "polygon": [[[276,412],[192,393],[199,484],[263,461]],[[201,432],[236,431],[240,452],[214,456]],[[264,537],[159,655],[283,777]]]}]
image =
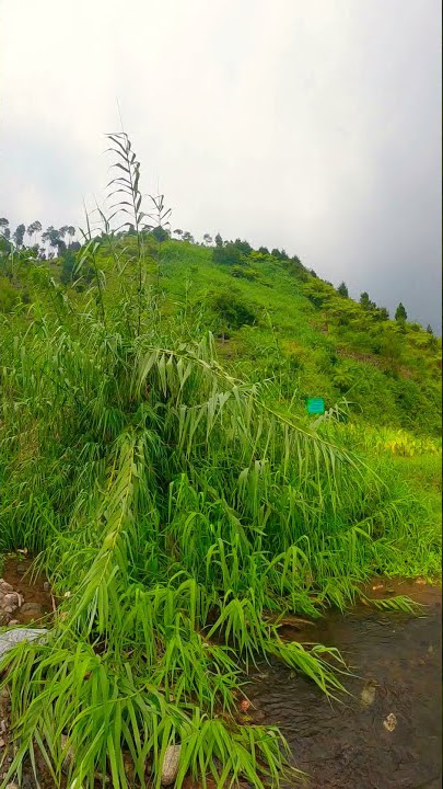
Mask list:
[{"label": "entire green hillside including the tall reed grass down to the stream", "polygon": [[334,649],[280,638],[280,615],[440,573],[441,342],[296,259],[137,232],[129,197],[133,233],[1,259],[0,551],[38,557],[60,601],[48,642],[4,659],[8,779],[38,750],[63,786],[72,747],[71,787],[97,770],[126,787],[128,761],[160,786],[179,743],[178,787],[277,786],[279,732],[235,722],[250,661],[346,684]]}]

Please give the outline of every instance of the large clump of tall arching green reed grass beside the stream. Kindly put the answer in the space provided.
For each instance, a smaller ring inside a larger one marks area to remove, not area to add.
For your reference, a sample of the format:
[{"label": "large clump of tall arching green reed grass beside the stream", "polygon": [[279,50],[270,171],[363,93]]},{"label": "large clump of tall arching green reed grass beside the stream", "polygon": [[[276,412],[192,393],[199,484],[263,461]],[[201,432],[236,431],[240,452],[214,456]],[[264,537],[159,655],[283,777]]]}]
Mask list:
[{"label": "large clump of tall arching green reed grass beside the stream", "polygon": [[189,316],[186,334],[152,319],[139,165],[126,135],[110,139],[125,193],[113,210],[137,236],[133,255],[105,218],[121,286],[107,288],[89,229],[86,296],[55,309],[42,289],[2,327],[0,550],[38,553],[63,601],[46,643],[4,659],[18,745],[7,780],[38,750],[59,786],[72,748],[71,787],[97,771],[128,786],[125,754],[159,786],[179,742],[178,787],[187,773],[278,785],[278,731],[233,722],[242,672],[277,656],[335,695],[345,665],[283,642],[270,615],[345,607],[371,573],[417,558],[416,539],[436,563],[436,536],[419,534],[420,505],[338,442],[333,419],[280,413]]}]

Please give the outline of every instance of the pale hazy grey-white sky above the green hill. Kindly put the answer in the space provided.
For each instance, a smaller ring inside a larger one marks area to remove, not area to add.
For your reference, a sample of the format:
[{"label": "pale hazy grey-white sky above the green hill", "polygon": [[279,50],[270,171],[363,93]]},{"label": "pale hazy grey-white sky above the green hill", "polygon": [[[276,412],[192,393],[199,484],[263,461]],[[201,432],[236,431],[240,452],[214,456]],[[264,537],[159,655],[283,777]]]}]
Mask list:
[{"label": "pale hazy grey-white sky above the green hill", "polygon": [[0,0],[0,216],[80,224],[117,99],[173,227],[441,325],[438,0]]}]

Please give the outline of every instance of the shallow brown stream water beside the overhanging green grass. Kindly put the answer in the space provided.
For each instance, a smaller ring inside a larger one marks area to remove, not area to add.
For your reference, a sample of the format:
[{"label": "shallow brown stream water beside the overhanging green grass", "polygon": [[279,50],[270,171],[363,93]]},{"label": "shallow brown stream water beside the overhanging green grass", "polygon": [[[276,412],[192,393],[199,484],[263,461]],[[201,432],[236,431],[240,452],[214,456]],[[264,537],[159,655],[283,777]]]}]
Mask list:
[{"label": "shallow brown stream water beside the overhanging green grass", "polygon": [[[253,719],[280,727],[310,789],[436,789],[442,776],[441,590],[405,583],[397,593],[425,603],[425,615],[359,606],[327,615],[299,641],[337,647],[359,676],[353,696],[329,702],[312,683],[275,662],[246,689]],[[386,590],[373,595],[389,596]],[[302,626],[303,627],[303,626]],[[390,717],[393,713],[395,719]],[[392,723],[389,727],[389,722]],[[395,728],[394,728],[395,727]],[[389,731],[389,728],[393,729]],[[287,786],[300,786],[292,778]]]}]

